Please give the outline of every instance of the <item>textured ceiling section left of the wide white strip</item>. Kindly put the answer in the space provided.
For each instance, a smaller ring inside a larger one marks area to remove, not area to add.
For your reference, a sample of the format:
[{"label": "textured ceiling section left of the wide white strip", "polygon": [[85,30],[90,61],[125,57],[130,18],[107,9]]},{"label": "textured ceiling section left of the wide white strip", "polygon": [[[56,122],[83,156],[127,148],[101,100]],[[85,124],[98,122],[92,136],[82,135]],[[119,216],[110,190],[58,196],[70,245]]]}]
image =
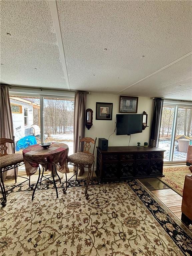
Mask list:
[{"label": "textured ceiling section left of the wide white strip", "polygon": [[8,83],[67,88],[48,1],[1,1],[1,63]]}]

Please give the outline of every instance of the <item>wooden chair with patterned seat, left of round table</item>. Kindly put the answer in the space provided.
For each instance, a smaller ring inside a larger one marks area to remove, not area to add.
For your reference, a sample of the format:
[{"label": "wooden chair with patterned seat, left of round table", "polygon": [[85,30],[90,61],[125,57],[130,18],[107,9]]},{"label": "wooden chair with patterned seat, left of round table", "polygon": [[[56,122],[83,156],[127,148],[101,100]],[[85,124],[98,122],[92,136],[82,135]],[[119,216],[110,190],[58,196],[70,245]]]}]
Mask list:
[{"label": "wooden chair with patterned seat, left of round table", "polygon": [[[13,154],[7,153],[8,147],[6,146],[6,143],[13,144]],[[5,206],[7,202],[6,190],[5,190],[4,181],[3,181],[3,173],[8,170],[14,169],[14,172],[15,172],[14,176],[15,176],[15,183],[16,183],[17,177],[22,177],[17,175],[16,168],[23,164],[24,164],[23,154],[15,154],[15,137],[13,136],[13,139],[0,138],[0,187],[3,195],[3,201],[1,202],[2,206]],[[22,177],[22,178],[28,180],[28,178],[26,177]],[[22,183],[23,182],[19,183],[18,185]]]}]

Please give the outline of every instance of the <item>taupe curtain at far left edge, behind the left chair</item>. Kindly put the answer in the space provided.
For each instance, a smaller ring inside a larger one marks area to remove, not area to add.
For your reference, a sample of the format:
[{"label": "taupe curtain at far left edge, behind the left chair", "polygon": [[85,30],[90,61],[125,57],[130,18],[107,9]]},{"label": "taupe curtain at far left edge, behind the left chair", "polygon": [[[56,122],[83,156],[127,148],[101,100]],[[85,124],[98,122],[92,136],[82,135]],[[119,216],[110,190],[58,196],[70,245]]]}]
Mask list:
[{"label": "taupe curtain at far left edge, behind the left chair", "polygon": [[[9,88],[7,85],[1,84],[1,94],[0,94],[0,137],[13,139],[13,120],[11,114],[11,104],[9,100]],[[7,143],[8,154],[13,154],[13,145]],[[3,179],[14,178],[14,169],[4,172]]]}]

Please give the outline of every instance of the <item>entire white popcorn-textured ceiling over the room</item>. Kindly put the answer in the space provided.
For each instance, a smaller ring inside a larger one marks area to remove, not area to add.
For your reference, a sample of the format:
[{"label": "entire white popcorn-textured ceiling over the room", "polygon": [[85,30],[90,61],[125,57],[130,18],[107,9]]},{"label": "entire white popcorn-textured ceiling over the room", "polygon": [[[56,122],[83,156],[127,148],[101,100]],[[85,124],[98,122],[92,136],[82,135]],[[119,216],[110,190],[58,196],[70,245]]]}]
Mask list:
[{"label": "entire white popcorn-textured ceiling over the room", "polygon": [[1,1],[1,81],[192,100],[191,14],[191,1]]}]

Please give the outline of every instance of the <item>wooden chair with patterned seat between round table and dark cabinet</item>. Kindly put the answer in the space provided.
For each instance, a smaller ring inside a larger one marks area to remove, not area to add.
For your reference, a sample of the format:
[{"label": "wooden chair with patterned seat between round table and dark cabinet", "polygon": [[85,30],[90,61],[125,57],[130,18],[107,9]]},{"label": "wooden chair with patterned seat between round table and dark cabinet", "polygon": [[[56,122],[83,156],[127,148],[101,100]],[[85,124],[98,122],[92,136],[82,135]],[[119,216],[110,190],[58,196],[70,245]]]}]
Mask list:
[{"label": "wooden chair with patterned seat between round table and dark cabinet", "polygon": [[[78,168],[88,168],[87,181],[86,181],[86,185],[85,185],[86,199],[89,198],[89,194],[87,193],[87,190],[88,190],[90,180],[93,178],[94,163],[95,163],[94,151],[95,151],[96,140],[97,140],[97,138],[95,138],[95,140],[94,140],[90,137],[85,137],[85,138],[81,139],[81,136],[79,136],[78,152],[74,153],[73,155],[68,156],[68,158],[67,158],[67,162],[69,164],[77,167],[76,173],[73,175],[73,176],[76,175],[76,180],[77,180]],[[80,143],[84,143],[83,152],[80,152]],[[94,144],[93,153],[89,152],[89,150],[91,148],[90,143]],[[93,166],[93,170],[91,170],[92,166]],[[71,178],[73,178],[73,176]],[[73,183],[70,181],[71,178],[68,180],[69,183]]]}]

